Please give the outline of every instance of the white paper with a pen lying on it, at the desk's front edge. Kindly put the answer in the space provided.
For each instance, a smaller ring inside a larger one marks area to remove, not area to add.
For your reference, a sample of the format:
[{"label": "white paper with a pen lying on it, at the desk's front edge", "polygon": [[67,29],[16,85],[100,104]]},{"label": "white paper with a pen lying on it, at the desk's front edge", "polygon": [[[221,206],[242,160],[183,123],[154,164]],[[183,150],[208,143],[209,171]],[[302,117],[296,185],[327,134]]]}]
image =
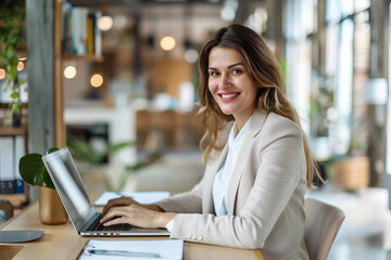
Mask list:
[{"label": "white paper with a pen lying on it, at the desk's front edge", "polygon": [[[108,255],[94,253],[94,251]],[[100,251],[101,250],[101,251]],[[91,252],[92,251],[92,252]],[[113,256],[117,252],[119,256]],[[118,253],[119,252],[119,253]],[[110,255],[113,253],[113,255]],[[121,253],[124,253],[121,256]],[[126,255],[127,253],[127,255]],[[142,257],[131,256],[131,253]],[[154,257],[148,257],[155,255]],[[180,260],[184,256],[182,239],[164,240],[100,240],[90,239],[80,251],[77,259],[140,259],[140,260]]]}]

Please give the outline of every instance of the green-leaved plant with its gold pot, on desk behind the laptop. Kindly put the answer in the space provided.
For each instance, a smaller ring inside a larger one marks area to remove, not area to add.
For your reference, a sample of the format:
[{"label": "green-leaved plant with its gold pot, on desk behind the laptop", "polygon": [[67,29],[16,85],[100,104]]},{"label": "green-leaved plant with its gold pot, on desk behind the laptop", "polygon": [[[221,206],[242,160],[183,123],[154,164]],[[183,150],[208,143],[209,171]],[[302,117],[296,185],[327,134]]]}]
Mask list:
[{"label": "green-leaved plant with its gold pot, on desk behind the laptop", "polygon": [[[48,151],[52,153],[58,148]],[[31,153],[23,156],[20,160],[20,173],[22,179],[33,185],[39,186],[39,218],[43,224],[63,224],[67,221],[67,213],[55,191],[54,184],[47,171],[42,155]]]}]

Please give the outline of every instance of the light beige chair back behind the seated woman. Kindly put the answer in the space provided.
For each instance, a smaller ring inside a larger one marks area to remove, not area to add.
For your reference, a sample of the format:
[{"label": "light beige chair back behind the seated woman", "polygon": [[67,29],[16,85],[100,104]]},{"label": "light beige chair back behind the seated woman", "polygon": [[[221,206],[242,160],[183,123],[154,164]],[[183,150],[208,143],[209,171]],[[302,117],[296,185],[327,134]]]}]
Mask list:
[{"label": "light beige chair back behind the seated woman", "polygon": [[344,212],[340,208],[314,198],[306,198],[304,208],[304,239],[310,260],[327,260],[345,218]]}]

